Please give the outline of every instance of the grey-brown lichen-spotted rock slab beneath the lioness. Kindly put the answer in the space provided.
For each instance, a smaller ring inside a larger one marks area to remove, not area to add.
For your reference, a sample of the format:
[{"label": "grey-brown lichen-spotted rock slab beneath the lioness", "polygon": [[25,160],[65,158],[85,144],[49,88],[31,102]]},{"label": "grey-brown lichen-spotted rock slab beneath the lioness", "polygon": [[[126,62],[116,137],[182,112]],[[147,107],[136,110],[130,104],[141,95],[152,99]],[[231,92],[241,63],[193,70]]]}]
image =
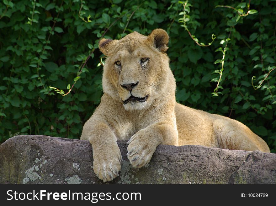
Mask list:
[{"label": "grey-brown lichen-spotted rock slab beneath the lioness", "polygon": [[[123,163],[119,184],[275,184],[276,154],[196,145],[159,145],[144,168],[132,168],[126,141],[118,141]],[[101,184],[93,172],[88,141],[22,135],[0,146],[0,183]]]}]

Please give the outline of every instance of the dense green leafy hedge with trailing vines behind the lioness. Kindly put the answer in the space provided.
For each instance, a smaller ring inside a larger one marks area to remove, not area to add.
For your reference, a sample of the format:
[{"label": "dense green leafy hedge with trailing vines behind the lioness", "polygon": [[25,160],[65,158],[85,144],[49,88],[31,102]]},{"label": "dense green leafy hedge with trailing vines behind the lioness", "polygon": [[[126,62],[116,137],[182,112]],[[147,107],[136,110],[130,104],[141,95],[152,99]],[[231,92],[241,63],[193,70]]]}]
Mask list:
[{"label": "dense green leafy hedge with trailing vines behind the lioness", "polygon": [[241,121],[275,153],[275,14],[275,0],[3,0],[0,142],[79,138],[102,95],[99,39],[163,28],[177,101]]}]

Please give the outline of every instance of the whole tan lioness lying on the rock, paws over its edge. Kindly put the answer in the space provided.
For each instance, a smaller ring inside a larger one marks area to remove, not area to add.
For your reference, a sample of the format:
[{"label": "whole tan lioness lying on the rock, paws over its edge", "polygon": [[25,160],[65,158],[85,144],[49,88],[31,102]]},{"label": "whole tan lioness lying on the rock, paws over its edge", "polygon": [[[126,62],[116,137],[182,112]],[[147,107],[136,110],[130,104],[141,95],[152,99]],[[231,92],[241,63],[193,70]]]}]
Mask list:
[{"label": "whole tan lioness lying on the rock, paws over its edge", "polygon": [[244,124],[175,101],[176,83],[165,53],[168,40],[166,31],[155,29],[149,36],[133,32],[99,42],[107,56],[104,95],[81,139],[92,144],[93,169],[104,182],[121,170],[116,143],[121,139],[129,139],[127,157],[135,168],[149,163],[159,144],[270,152]]}]

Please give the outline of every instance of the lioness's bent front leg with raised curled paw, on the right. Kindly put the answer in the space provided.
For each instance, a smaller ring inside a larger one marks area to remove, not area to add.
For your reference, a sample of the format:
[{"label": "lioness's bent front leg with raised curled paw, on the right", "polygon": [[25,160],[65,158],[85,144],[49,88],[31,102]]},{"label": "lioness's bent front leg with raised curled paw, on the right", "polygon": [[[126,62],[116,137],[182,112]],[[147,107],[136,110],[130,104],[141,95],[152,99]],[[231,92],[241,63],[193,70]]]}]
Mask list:
[{"label": "lioness's bent front leg with raised curled paw, on the right", "polygon": [[141,168],[150,162],[159,144],[177,145],[178,132],[169,124],[152,124],[134,134],[127,143],[130,164]]}]

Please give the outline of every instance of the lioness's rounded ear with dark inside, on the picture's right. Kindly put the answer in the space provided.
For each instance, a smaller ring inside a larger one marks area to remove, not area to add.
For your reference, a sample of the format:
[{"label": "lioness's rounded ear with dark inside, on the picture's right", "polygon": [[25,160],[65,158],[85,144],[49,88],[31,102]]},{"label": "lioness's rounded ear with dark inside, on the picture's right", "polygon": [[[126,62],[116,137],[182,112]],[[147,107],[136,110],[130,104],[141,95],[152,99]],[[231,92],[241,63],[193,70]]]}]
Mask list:
[{"label": "lioness's rounded ear with dark inside, on the picture's right", "polygon": [[169,42],[169,35],[163,29],[155,29],[148,36],[150,41],[153,43],[153,46],[157,48],[160,52],[166,52]]}]

